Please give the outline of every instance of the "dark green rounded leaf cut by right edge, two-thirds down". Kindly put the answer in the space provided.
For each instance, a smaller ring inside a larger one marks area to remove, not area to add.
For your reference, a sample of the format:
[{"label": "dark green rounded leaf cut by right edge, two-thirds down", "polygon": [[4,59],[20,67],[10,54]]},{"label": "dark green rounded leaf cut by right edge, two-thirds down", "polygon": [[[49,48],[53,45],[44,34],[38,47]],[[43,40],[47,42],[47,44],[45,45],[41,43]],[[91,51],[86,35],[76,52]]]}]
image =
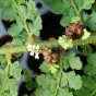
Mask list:
[{"label": "dark green rounded leaf cut by right edge, two-thirds down", "polygon": [[91,76],[94,76],[96,74],[96,67],[94,65],[86,65],[84,68],[84,73],[91,75]]}]

